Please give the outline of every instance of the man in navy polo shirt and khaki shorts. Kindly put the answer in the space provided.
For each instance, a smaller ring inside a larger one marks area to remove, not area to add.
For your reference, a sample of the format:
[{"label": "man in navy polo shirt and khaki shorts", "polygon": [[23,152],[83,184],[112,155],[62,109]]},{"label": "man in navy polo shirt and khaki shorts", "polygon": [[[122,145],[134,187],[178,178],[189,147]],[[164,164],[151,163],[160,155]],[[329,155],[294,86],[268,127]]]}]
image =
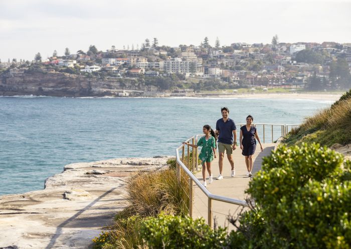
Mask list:
[{"label": "man in navy polo shirt and khaki shorts", "polygon": [[219,133],[218,136],[218,152],[219,152],[219,169],[220,174],[217,177],[217,180],[223,179],[222,170],[223,170],[223,158],[224,152],[227,151],[227,157],[232,166],[231,176],[235,176],[235,169],[234,169],[234,161],[233,161],[233,150],[237,148],[237,132],[234,120],[228,117],[229,109],[227,107],[221,108],[222,117],[221,119],[217,120],[216,123],[216,130]]}]

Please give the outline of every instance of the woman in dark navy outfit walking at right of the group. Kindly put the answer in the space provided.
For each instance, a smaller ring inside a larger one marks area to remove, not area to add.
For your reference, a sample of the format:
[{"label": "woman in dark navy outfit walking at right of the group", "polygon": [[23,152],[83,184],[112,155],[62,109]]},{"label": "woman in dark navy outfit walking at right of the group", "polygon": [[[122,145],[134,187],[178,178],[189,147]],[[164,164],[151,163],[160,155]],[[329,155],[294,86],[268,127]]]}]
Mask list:
[{"label": "woman in dark navy outfit walking at right of the group", "polygon": [[263,146],[258,137],[256,127],[252,124],[253,121],[254,118],[251,115],[247,116],[246,125],[240,128],[240,149],[243,150],[242,154],[245,156],[247,175],[249,177],[252,176],[251,171],[254,165],[252,156],[256,150],[256,139],[261,145],[261,151],[263,151]]}]

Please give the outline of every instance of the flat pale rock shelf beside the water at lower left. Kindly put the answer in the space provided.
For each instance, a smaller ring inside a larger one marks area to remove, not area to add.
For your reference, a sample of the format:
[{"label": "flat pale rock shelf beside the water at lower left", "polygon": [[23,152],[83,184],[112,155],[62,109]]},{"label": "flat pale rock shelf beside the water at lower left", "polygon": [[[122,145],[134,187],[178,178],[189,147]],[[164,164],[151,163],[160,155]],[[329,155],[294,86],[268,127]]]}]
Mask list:
[{"label": "flat pale rock shelf beside the water at lower left", "polygon": [[170,158],[68,164],[45,180],[43,190],[0,196],[0,248],[89,248],[91,239],[128,205],[127,177],[163,168]]}]

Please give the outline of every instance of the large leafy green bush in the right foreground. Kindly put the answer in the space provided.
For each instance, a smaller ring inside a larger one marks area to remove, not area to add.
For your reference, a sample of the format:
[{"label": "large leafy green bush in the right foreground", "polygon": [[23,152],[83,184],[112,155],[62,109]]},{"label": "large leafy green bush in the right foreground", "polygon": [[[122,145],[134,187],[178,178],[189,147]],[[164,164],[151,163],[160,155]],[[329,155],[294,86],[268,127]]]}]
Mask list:
[{"label": "large leafy green bush in the right foreground", "polygon": [[256,207],[231,232],[232,248],[351,248],[350,169],[319,144],[278,147],[249,184]]}]

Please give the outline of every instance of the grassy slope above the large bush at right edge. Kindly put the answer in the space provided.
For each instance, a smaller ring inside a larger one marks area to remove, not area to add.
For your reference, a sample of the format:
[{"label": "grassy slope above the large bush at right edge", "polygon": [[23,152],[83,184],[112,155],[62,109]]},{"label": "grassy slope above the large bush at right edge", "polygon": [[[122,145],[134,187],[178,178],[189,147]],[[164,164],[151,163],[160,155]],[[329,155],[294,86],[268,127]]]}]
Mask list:
[{"label": "grassy slope above the large bush at right edge", "polygon": [[351,97],[342,96],[331,107],[306,118],[299,128],[289,132],[284,142],[287,145],[316,142],[327,146],[351,142]]}]

